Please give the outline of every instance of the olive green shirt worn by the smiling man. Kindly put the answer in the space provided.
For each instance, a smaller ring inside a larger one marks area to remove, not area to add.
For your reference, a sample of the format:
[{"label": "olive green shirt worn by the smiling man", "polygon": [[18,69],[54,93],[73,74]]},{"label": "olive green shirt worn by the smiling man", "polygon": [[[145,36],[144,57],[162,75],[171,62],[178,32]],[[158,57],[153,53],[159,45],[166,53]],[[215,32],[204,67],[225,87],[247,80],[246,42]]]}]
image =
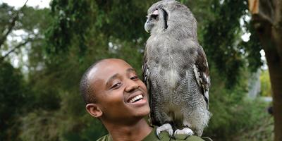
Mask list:
[{"label": "olive green shirt worn by the smiling man", "polygon": [[[166,133],[166,132],[162,132],[159,135],[159,138],[158,138],[156,130],[157,130],[157,128],[155,127],[152,130],[152,132],[149,133],[149,135],[147,135],[142,141],[159,141],[159,140],[169,141],[170,140],[170,137],[169,137],[168,133]],[[108,134],[108,135],[105,135],[105,136],[99,138],[97,141],[113,141],[113,140],[111,139],[111,135]],[[174,140],[172,138],[171,141],[180,141],[180,140]],[[191,135],[191,136],[187,137],[185,141],[204,141],[204,140],[202,140],[201,137]]]}]

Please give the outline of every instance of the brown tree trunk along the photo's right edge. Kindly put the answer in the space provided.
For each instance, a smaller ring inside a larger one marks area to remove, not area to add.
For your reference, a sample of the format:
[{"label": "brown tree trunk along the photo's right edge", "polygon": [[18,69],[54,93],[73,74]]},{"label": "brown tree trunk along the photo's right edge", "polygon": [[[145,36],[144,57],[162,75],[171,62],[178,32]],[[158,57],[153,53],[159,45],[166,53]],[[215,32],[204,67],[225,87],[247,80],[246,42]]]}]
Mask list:
[{"label": "brown tree trunk along the photo's right edge", "polygon": [[282,0],[249,0],[252,22],[266,54],[273,92],[274,140],[282,140]]}]

